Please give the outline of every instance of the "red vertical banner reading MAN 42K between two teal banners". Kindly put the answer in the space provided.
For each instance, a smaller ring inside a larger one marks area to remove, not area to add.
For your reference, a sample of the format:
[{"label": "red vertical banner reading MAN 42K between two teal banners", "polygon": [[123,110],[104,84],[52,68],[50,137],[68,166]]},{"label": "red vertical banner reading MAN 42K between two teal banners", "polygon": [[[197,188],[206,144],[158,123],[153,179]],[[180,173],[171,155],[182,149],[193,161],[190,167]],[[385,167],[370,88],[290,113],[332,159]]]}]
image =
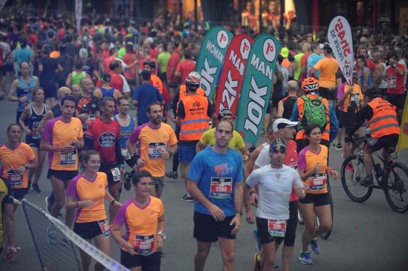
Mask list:
[{"label": "red vertical banner reading MAN 42K between two teal banners", "polygon": [[215,114],[226,108],[233,113],[237,111],[238,97],[241,92],[246,61],[253,39],[246,34],[239,34],[232,40],[226,50],[224,65],[218,84]]}]

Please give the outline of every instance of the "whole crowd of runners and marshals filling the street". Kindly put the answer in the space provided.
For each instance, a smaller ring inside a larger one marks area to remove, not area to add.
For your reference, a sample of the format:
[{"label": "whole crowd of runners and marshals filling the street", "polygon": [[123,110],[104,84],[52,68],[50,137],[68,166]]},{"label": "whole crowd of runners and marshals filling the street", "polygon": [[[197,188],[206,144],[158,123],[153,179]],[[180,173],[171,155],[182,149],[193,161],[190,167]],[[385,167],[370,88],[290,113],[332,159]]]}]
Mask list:
[{"label": "whole crowd of runners and marshals filling the street", "polygon": [[[247,149],[234,130],[236,116],[227,109],[216,115],[199,87],[194,60],[203,32],[96,18],[83,20],[77,33],[69,17],[18,19],[0,25],[0,98],[16,105],[15,123],[0,146],[0,252],[5,239],[6,262],[16,256],[13,198],[41,193],[49,179],[46,211],[65,218],[107,255],[112,235],[125,267],[159,270],[166,238],[160,197],[166,178],[179,178],[181,163],[181,199],[194,201],[195,270],[204,269],[216,241],[222,269],[234,270],[244,209],[246,222],[256,225],[254,270],[272,270],[282,242],[282,267],[289,270],[298,210],[305,225],[298,259],[313,264],[309,248],[321,252],[316,237],[333,223],[327,180],[339,173],[329,167],[329,149],[347,157],[353,134],[370,133],[361,185],[372,186],[371,153],[392,152],[398,141],[406,36],[384,34],[378,41],[366,30],[356,34],[350,87],[323,36],[284,35],[262,131],[267,142]],[[168,172],[166,160],[172,162]],[[346,170],[354,171],[353,165]],[[120,197],[122,185],[134,189],[132,198]],[[70,246],[53,225],[46,231],[50,245]],[[80,252],[89,270],[91,257]]]}]

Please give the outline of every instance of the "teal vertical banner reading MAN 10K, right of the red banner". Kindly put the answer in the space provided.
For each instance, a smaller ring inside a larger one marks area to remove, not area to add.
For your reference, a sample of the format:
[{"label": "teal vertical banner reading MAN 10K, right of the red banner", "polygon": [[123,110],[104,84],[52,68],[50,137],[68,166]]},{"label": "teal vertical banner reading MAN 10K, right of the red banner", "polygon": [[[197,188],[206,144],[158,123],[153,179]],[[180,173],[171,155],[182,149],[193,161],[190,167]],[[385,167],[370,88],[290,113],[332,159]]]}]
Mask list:
[{"label": "teal vertical banner reading MAN 10K, right of the red banner", "polygon": [[244,141],[256,144],[268,108],[281,42],[262,34],[253,42],[238,104],[236,130]]}]

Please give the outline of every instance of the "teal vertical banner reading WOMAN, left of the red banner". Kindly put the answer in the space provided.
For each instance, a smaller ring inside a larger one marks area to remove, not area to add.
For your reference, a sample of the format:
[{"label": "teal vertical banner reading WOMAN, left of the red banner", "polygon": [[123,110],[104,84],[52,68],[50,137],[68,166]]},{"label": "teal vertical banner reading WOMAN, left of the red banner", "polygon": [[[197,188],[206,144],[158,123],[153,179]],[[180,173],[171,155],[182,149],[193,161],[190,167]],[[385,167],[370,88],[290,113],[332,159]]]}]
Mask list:
[{"label": "teal vertical banner reading WOMAN, left of the red banner", "polygon": [[214,26],[202,40],[195,71],[201,74],[200,87],[205,90],[210,101],[232,37],[233,34],[223,26]]}]

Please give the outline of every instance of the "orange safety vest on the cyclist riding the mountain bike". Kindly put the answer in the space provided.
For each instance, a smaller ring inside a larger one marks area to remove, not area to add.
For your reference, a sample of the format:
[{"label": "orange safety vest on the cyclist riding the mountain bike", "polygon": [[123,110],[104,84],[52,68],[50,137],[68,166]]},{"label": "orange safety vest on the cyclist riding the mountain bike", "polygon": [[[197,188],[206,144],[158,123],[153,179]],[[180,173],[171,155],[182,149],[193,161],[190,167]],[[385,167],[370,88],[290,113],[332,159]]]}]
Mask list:
[{"label": "orange safety vest on the cyclist riding the mountain bike", "polygon": [[378,139],[388,134],[398,133],[397,107],[386,100],[375,98],[367,103],[373,110],[373,116],[368,120],[371,137]]}]

